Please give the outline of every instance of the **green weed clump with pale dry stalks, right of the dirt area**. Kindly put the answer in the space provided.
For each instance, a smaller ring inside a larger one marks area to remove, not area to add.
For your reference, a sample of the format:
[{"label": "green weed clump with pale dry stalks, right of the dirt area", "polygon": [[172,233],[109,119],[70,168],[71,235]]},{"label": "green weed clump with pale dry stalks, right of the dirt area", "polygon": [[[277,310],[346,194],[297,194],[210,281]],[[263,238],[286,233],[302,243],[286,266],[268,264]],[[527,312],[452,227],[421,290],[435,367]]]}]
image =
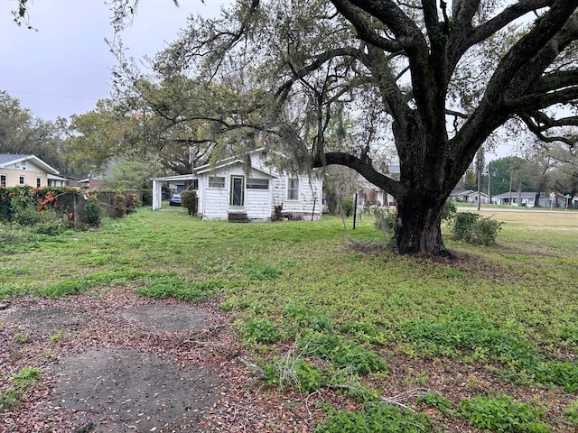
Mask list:
[{"label": "green weed clump with pale dry stalks, right of the dirt area", "polygon": [[322,373],[315,365],[303,359],[303,352],[295,354],[295,347],[284,357],[276,356],[272,363],[263,367],[266,382],[280,389],[294,388],[310,394],[321,388]]}]

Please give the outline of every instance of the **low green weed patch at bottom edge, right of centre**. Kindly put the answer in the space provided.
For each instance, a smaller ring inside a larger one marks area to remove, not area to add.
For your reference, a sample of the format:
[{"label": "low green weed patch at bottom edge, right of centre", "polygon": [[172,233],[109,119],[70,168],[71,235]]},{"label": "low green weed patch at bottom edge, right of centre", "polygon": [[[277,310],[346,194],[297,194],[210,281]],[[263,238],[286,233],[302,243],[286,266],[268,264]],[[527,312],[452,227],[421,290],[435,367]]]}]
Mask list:
[{"label": "low green weed patch at bottom edge, right of centre", "polygon": [[362,410],[331,410],[314,433],[423,433],[432,431],[433,420],[424,413],[388,404],[370,403]]}]

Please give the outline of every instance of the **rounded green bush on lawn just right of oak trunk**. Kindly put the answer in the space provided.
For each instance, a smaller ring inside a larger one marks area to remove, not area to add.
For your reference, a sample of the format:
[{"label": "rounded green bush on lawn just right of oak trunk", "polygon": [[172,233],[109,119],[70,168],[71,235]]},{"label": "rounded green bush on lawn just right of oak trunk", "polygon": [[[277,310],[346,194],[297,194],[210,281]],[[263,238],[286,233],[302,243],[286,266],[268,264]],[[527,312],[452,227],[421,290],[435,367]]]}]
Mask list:
[{"label": "rounded green bush on lawn just right of oak trunk", "polygon": [[453,217],[450,228],[457,241],[489,246],[496,244],[501,224],[499,221],[480,217],[472,212],[460,212]]}]

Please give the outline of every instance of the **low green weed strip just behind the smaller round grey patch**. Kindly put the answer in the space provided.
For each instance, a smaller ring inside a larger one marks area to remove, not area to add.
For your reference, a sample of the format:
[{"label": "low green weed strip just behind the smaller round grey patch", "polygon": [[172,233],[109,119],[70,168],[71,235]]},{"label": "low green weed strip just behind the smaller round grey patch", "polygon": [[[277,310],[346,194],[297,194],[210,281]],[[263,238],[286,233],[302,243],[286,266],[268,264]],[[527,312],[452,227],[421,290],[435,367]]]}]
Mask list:
[{"label": "low green weed strip just behind the smaller round grey patch", "polygon": [[189,302],[200,302],[217,296],[219,290],[227,286],[225,281],[183,281],[178,277],[161,276],[143,287],[136,289],[136,294],[154,299],[180,299]]}]

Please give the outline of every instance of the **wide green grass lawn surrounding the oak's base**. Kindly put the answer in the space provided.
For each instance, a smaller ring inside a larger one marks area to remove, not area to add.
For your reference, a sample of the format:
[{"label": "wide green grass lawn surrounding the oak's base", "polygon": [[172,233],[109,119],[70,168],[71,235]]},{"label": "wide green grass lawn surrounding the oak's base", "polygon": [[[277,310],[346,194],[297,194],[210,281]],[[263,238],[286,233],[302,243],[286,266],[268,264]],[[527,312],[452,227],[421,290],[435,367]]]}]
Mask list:
[{"label": "wide green grass lawn surrounding the oak's base", "polygon": [[354,402],[328,407],[316,431],[575,431],[578,213],[493,218],[491,247],[444,228],[448,261],[368,244],[381,240],[370,216],[353,230],[337,217],[230,224],[141,209],[94,231],[5,235],[0,299],[121,285],[217,296],[266,382]]}]

